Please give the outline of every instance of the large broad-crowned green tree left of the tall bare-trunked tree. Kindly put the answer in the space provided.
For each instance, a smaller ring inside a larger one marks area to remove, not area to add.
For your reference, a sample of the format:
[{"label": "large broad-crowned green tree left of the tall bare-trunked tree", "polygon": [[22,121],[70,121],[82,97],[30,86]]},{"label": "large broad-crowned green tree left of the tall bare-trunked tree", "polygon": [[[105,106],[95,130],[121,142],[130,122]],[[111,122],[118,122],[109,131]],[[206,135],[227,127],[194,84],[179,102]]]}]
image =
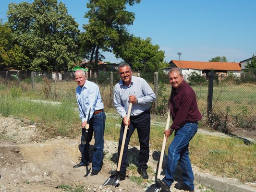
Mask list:
[{"label": "large broad-crowned green tree left of the tall bare-trunked tree", "polygon": [[77,60],[78,24],[58,0],[10,3],[8,24],[29,58],[27,70],[60,71]]}]

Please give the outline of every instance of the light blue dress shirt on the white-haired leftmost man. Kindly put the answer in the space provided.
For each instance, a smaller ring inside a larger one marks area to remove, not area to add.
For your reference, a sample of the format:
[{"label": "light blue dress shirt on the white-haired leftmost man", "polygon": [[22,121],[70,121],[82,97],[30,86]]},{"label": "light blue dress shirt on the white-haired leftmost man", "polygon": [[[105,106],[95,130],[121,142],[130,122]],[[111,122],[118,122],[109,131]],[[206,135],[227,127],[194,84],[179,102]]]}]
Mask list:
[{"label": "light blue dress shirt on the white-haired leftmost man", "polygon": [[92,118],[94,111],[104,108],[97,84],[86,80],[83,87],[76,87],[75,92],[79,109],[79,117],[82,122],[87,120],[90,108],[90,119]]}]

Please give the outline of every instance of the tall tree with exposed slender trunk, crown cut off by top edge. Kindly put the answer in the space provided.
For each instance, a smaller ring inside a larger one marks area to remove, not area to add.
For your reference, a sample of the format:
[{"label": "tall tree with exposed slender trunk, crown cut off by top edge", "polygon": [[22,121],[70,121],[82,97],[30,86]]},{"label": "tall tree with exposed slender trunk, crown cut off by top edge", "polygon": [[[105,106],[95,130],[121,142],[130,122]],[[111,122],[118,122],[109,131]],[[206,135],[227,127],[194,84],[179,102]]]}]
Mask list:
[{"label": "tall tree with exposed slender trunk, crown cut off by top edge", "polygon": [[[121,36],[129,36],[126,25],[134,22],[134,13],[126,11],[126,5],[134,5],[140,0],[90,0],[85,18],[89,23],[84,25],[85,45],[90,47],[90,63],[94,60],[94,74],[98,76],[99,52],[112,51]],[[103,56],[104,57],[104,56]]]}]

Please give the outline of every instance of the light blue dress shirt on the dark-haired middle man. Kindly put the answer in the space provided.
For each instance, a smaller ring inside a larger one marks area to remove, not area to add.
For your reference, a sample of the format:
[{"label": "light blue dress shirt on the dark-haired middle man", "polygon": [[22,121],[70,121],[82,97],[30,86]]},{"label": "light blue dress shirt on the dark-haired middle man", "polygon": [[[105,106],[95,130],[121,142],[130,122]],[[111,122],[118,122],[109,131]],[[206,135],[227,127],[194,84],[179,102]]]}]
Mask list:
[{"label": "light blue dress shirt on the dark-haired middle man", "polygon": [[122,84],[121,79],[115,85],[114,106],[122,118],[127,116],[129,96],[131,95],[134,95],[138,99],[138,104],[133,104],[131,116],[137,116],[149,109],[150,103],[156,99],[156,94],[145,79],[132,76],[132,82],[129,86]]}]

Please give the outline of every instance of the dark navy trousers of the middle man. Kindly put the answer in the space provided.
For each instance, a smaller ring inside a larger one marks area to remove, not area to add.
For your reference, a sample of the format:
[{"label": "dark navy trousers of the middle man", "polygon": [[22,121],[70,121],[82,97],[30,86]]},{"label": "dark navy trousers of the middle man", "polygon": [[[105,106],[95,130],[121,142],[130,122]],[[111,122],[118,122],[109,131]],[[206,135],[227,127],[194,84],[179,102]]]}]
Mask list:
[{"label": "dark navy trousers of the middle man", "polygon": [[[138,157],[138,168],[147,169],[147,161],[149,158],[149,135],[150,135],[150,113],[149,110],[144,111],[141,115],[130,117],[130,125],[127,131],[125,145],[123,149],[122,155],[122,164],[120,171],[126,172],[127,167],[127,152],[128,152],[128,145],[130,143],[132,134],[134,133],[135,129],[137,129],[139,142],[140,142],[140,151]],[[118,159],[122,145],[122,137],[124,132],[124,125],[122,122],[121,131],[120,131],[120,138],[119,138],[119,145],[118,145]]]}]

